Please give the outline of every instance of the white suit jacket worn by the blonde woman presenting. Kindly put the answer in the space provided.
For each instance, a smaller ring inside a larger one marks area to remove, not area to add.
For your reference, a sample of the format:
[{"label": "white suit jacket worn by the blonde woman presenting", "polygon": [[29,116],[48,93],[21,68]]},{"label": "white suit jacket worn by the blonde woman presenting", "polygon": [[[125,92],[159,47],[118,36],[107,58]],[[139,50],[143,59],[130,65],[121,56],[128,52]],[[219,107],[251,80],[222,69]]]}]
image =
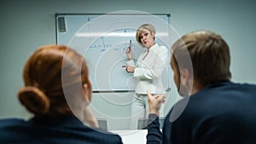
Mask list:
[{"label": "white suit jacket worn by the blonde woman presenting", "polygon": [[166,68],[166,60],[168,58],[168,50],[165,46],[159,46],[155,43],[147,52],[139,56],[137,66],[134,60],[126,62],[129,66],[135,66],[133,77],[137,78],[137,94],[147,94],[147,90],[151,94],[166,94],[166,89],[162,83],[162,73]]}]

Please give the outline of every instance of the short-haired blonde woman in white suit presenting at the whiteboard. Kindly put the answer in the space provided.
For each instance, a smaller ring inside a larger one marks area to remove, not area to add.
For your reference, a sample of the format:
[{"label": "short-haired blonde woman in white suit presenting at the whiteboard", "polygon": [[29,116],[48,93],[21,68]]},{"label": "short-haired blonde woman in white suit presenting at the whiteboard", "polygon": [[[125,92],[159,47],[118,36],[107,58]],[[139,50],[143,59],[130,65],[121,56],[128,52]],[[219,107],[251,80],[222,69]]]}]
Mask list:
[{"label": "short-haired blonde woman in white suit presenting at the whiteboard", "polygon": [[[131,103],[131,129],[137,129],[138,118],[146,118],[148,115],[147,90],[150,90],[152,95],[166,94],[162,73],[166,68],[168,50],[165,46],[155,43],[155,28],[150,24],[138,27],[136,39],[147,51],[141,54],[135,63],[131,46],[126,50],[128,61],[123,67],[126,72],[137,78],[137,88]],[[160,113],[163,113],[163,106]]]}]

